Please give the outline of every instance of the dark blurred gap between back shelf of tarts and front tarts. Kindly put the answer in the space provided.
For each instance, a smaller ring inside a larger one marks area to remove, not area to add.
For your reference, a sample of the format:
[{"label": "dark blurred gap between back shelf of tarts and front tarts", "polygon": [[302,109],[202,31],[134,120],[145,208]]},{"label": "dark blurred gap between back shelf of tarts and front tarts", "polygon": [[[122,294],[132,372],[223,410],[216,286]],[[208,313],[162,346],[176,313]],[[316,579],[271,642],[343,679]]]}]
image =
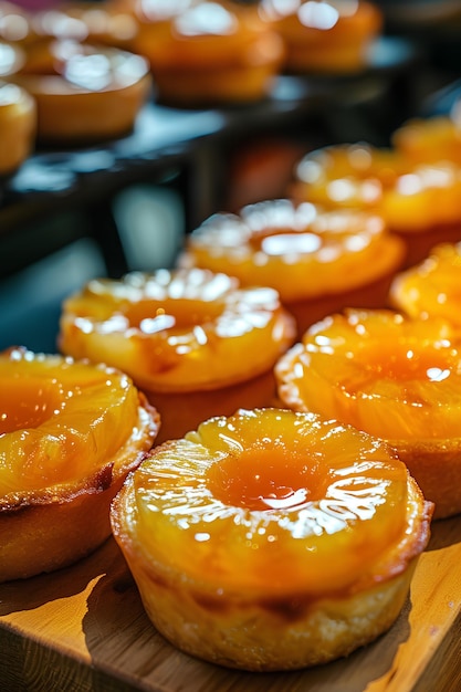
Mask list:
[{"label": "dark blurred gap between back shelf of tarts and front tarts", "polygon": [[93,276],[171,266],[209,214],[283,193],[304,151],[387,146],[409,117],[448,113],[461,90],[461,3],[376,4],[383,36],[359,74],[287,77],[270,98],[229,108],[168,107],[154,92],[116,143],[38,145],[0,184],[0,348],[56,350],[66,295]]}]

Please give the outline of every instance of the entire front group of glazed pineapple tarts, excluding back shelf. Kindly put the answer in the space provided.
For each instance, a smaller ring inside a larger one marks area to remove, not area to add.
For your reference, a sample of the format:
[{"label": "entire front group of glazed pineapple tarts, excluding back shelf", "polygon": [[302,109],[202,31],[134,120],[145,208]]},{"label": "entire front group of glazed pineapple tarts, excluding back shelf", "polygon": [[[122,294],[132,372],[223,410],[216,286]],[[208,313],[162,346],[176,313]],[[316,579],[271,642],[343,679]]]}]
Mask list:
[{"label": "entire front group of glazed pineapple tarts, excluding back shelf", "polygon": [[307,153],[177,266],[70,295],[60,355],[0,355],[0,580],[112,532],[207,661],[300,669],[391,627],[461,512],[458,162],[404,134]]}]

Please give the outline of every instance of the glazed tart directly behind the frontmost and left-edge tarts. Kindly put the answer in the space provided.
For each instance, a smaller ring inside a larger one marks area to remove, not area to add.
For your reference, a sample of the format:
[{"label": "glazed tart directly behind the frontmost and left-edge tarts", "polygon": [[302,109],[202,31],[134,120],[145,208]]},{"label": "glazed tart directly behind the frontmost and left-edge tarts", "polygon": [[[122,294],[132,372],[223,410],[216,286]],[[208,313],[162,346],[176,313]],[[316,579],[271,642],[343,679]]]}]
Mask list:
[{"label": "glazed tart directly behind the frontmost and left-edge tarts", "polygon": [[64,302],[59,343],[127,373],[159,410],[163,441],[273,403],[273,366],[294,337],[276,291],[191,269],[91,281]]}]

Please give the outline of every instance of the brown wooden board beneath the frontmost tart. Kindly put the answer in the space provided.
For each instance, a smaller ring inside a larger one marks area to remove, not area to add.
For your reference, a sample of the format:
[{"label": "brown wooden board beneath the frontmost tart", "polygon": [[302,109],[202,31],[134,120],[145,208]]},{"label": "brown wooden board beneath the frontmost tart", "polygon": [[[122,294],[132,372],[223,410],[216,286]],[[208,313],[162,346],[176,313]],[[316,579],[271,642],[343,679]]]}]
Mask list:
[{"label": "brown wooden board beneath the frontmost tart", "polygon": [[0,690],[15,692],[457,692],[461,517],[434,522],[388,633],[347,659],[242,673],[180,653],[147,619],[115,542],[53,575],[0,586]]}]

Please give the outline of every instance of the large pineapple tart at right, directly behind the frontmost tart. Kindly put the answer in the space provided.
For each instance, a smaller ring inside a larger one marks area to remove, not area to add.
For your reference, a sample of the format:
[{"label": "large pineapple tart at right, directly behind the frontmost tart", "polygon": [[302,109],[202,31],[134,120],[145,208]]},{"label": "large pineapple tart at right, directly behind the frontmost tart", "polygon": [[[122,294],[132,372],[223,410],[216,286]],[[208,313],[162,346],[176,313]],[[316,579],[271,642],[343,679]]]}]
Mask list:
[{"label": "large pineapple tart at right, directly behind the frontmost tart", "polygon": [[434,517],[461,511],[461,347],[444,319],[346,311],[311,327],[275,366],[279,396],[386,440]]}]

